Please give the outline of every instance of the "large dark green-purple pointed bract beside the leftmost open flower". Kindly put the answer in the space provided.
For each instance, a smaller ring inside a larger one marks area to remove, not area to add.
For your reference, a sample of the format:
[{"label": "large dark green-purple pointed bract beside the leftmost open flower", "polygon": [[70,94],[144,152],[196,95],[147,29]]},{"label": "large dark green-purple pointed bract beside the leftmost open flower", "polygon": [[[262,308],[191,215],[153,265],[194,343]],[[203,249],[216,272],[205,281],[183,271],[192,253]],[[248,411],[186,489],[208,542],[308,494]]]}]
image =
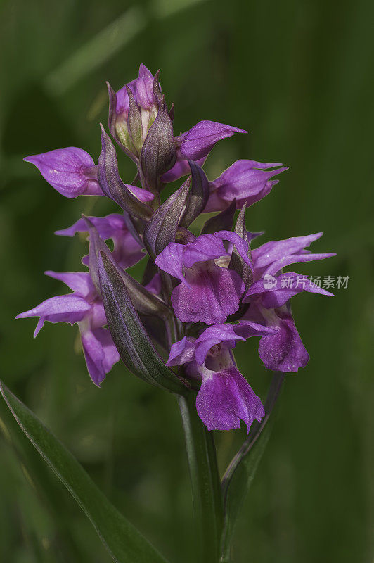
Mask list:
[{"label": "large dark green-purple pointed bract beside the leftmost open flower", "polygon": [[120,272],[103,252],[99,256],[99,277],[108,327],[124,365],[133,374],[157,387],[174,393],[186,391],[157,354]]}]

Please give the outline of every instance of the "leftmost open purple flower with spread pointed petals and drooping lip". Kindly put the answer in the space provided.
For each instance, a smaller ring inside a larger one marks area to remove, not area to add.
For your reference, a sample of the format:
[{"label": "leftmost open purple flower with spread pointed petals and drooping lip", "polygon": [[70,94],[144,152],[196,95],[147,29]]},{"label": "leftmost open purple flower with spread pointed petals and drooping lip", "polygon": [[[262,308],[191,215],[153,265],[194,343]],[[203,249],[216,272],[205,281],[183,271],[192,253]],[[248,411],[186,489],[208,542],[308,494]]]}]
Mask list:
[{"label": "leftmost open purple flower with spread pointed petals and drooping lip", "polygon": [[91,276],[89,272],[45,273],[47,276],[63,281],[73,293],[46,299],[37,307],[21,312],[16,318],[40,317],[34,337],[46,321],[77,323],[87,369],[93,383],[100,387],[105,375],[120,360],[120,355],[109,330],[103,328],[107,324],[105,311]]}]

